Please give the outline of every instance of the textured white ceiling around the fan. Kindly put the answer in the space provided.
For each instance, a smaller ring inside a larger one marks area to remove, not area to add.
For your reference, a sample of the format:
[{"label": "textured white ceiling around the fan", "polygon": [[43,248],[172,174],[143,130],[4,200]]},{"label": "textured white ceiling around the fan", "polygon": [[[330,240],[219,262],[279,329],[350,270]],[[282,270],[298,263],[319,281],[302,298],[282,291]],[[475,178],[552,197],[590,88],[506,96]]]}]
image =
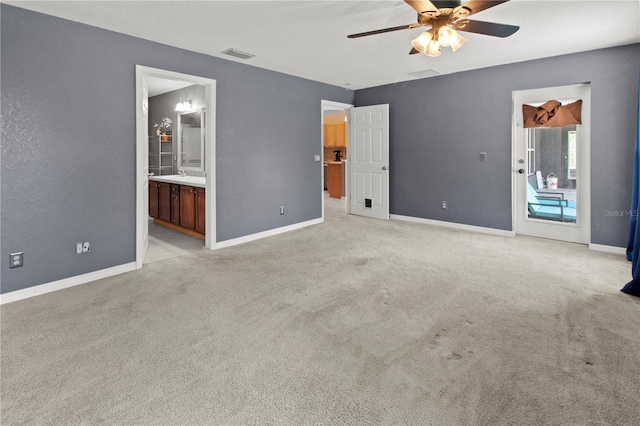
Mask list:
[{"label": "textured white ceiling around the fan", "polygon": [[[348,34],[416,22],[403,1],[5,1],[195,52],[350,89],[640,42],[640,0],[511,0],[472,19],[520,26],[442,56],[408,55],[422,30]],[[241,60],[228,48],[253,53]],[[422,75],[434,74],[432,71]],[[348,85],[348,86],[347,86]]]}]

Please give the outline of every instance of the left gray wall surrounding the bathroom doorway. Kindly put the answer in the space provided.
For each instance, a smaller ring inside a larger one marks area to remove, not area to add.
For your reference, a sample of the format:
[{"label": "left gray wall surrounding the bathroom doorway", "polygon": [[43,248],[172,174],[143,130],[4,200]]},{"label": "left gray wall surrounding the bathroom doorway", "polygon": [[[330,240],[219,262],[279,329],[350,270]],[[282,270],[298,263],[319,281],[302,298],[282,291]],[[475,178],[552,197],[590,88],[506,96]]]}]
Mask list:
[{"label": "left gray wall surrounding the bathroom doorway", "polygon": [[136,64],[217,80],[219,241],[321,217],[321,99],[352,91],[0,7],[2,293],[135,260]]}]

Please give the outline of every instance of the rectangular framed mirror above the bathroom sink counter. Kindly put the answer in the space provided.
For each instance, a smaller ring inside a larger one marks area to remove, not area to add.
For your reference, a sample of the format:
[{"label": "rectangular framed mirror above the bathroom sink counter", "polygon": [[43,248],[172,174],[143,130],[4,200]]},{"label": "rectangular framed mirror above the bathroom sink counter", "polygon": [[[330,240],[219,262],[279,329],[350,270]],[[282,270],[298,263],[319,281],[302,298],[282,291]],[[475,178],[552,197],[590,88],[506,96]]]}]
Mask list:
[{"label": "rectangular framed mirror above the bathroom sink counter", "polygon": [[178,114],[178,168],[204,171],[204,108]]}]

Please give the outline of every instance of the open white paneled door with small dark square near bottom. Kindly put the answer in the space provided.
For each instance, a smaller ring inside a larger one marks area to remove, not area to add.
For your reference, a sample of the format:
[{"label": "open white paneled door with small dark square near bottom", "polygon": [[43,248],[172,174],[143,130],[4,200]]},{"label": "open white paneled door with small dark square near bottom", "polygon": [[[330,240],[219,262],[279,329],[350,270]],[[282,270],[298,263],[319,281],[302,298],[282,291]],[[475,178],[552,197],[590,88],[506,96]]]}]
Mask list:
[{"label": "open white paneled door with small dark square near bottom", "polygon": [[349,134],[351,213],[389,219],[389,105],[351,108]]}]

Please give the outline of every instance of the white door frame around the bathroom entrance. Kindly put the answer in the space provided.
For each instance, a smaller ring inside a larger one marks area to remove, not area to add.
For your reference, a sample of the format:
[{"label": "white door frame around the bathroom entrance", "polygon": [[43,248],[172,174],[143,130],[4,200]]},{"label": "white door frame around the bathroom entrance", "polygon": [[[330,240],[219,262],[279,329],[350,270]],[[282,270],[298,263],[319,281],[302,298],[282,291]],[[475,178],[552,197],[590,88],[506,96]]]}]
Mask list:
[{"label": "white door frame around the bathroom entrance", "polygon": [[149,217],[149,206],[145,203],[143,193],[146,170],[149,167],[149,141],[144,135],[144,120],[140,117],[138,105],[142,102],[143,79],[147,77],[164,78],[168,80],[188,81],[202,84],[205,87],[205,247],[214,249],[216,245],[216,80],[182,74],[173,71],[136,65],[136,268],[142,268],[144,260],[144,221]]}]

